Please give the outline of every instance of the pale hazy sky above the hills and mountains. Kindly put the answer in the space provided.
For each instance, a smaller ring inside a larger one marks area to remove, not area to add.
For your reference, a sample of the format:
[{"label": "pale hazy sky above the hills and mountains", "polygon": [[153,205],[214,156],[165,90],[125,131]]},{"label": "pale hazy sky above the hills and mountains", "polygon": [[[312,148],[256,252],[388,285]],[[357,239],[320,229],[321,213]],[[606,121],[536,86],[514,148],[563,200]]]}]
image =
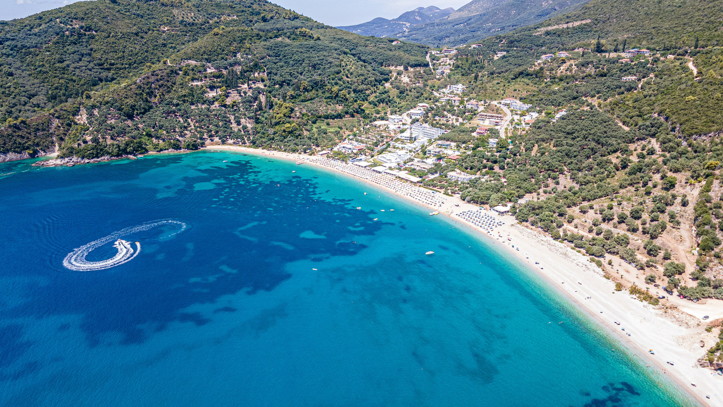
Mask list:
[{"label": "pale hazy sky above the hills and mountains", "polygon": [[[0,0],[0,20],[27,17],[77,0]],[[425,2],[426,1],[426,2]],[[470,0],[272,0],[327,25],[355,25],[375,17],[394,18],[417,7],[458,9]]]}]

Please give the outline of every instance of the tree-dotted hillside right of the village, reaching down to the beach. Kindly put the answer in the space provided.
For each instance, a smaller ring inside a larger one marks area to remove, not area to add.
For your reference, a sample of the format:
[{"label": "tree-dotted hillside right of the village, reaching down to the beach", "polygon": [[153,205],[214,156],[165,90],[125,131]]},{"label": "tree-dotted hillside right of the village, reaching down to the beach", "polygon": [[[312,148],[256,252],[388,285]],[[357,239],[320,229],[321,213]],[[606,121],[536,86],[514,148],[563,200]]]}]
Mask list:
[{"label": "tree-dotted hillside right of the village, reaching down to the beach", "polygon": [[459,48],[442,84],[540,116],[435,168],[482,178],[429,184],[481,204],[523,199],[519,221],[625,276],[618,289],[632,280],[641,301],[657,304],[638,288],[656,281],[723,299],[722,15],[720,0],[591,0]]}]

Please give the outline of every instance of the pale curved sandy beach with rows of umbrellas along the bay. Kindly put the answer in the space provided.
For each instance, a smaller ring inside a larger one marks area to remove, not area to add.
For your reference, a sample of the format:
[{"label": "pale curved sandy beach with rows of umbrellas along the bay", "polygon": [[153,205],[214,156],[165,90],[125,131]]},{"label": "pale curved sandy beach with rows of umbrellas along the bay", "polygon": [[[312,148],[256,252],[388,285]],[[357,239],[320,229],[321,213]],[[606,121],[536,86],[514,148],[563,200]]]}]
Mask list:
[{"label": "pale curved sandy beach with rows of umbrellas along the bay", "polygon": [[[638,356],[646,368],[655,369],[655,372],[651,370],[651,374],[668,377],[677,390],[703,406],[723,406],[723,377],[697,364],[708,346],[701,348],[698,345],[701,335],[695,327],[698,321],[694,317],[644,304],[627,291],[614,291],[612,280],[607,280],[603,271],[589,262],[588,257],[518,225],[510,215],[495,215],[490,210],[480,210],[477,205],[468,204],[457,197],[435,193],[387,174],[374,173],[354,164],[319,156],[230,145],[207,146],[202,150],[235,151],[302,161],[304,165],[310,164],[353,177],[395,197],[439,211],[440,215],[448,215],[453,226],[469,228],[471,236],[476,239],[484,239],[482,236],[486,236],[491,241],[497,241],[517,260],[535,269],[529,270],[531,276],[544,280],[549,288],[586,314],[597,327],[604,329],[610,338],[615,338],[630,354]],[[464,214],[466,211],[489,215],[495,222],[504,224],[495,227],[494,232],[484,231],[470,221],[469,215]],[[534,264],[536,261],[539,265]],[[620,325],[615,322],[620,322]],[[654,350],[655,354],[650,354],[649,349]],[[667,364],[667,361],[673,364]],[[696,387],[691,385],[693,382]],[[706,398],[706,395],[710,398]]]}]

